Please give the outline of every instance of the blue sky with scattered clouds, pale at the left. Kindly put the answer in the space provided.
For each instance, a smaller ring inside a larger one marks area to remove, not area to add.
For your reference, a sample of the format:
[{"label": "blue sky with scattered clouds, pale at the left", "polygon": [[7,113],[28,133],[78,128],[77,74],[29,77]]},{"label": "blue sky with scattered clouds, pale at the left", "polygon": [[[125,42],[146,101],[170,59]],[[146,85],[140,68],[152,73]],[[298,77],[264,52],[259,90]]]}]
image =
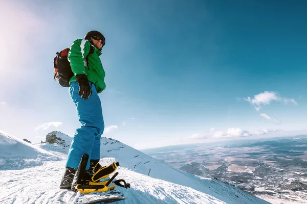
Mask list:
[{"label": "blue sky with scattered clouds, pale at the left", "polygon": [[[59,6],[60,5],[60,6]],[[307,125],[305,1],[1,1],[0,130],[79,126],[53,57],[104,34],[105,137],[135,148]],[[267,135],[263,135],[266,137]]]}]

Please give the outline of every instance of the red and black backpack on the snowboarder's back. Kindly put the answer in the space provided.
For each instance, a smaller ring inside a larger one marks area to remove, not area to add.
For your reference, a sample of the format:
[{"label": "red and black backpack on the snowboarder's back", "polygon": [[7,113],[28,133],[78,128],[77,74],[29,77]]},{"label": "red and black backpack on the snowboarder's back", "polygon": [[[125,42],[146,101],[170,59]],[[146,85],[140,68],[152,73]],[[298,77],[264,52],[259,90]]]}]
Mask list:
[{"label": "red and black backpack on the snowboarder's back", "polygon": [[[69,87],[69,81],[73,77],[74,73],[68,61],[68,52],[70,48],[65,48],[61,52],[56,53],[54,57],[54,80],[57,79],[62,87]],[[94,47],[91,45],[90,52],[86,56],[87,66],[89,66],[88,57],[94,53]]]}]

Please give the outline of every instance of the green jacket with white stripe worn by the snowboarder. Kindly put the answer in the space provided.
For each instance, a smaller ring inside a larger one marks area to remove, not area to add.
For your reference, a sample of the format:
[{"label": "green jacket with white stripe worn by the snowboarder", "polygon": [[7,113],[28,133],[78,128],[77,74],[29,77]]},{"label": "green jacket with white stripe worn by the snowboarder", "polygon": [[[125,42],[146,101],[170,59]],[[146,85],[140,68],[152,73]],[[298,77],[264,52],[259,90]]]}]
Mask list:
[{"label": "green jacket with white stripe worn by the snowboarder", "polygon": [[105,89],[105,72],[99,58],[101,55],[99,49],[93,46],[95,48],[94,53],[88,57],[89,68],[86,65],[85,58],[89,54],[91,46],[93,45],[89,41],[82,39],[77,39],[72,44],[68,53],[68,61],[70,62],[74,76],[71,78],[69,84],[76,82],[77,74],[86,74],[87,79],[95,84],[97,93],[101,93]]}]

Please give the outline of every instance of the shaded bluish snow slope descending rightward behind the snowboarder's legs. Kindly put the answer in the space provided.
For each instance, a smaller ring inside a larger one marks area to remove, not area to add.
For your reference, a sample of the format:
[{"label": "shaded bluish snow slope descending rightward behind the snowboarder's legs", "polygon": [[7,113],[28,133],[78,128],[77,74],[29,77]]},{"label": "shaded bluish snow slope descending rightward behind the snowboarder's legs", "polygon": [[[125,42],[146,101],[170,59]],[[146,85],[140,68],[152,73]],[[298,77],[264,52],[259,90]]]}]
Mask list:
[{"label": "shaded bluish snow slope descending rightward behind the snowboarder's legs", "polygon": [[186,186],[227,203],[267,203],[219,180],[200,178],[174,169],[117,140],[101,138],[100,157],[112,157],[121,166],[155,179]]}]

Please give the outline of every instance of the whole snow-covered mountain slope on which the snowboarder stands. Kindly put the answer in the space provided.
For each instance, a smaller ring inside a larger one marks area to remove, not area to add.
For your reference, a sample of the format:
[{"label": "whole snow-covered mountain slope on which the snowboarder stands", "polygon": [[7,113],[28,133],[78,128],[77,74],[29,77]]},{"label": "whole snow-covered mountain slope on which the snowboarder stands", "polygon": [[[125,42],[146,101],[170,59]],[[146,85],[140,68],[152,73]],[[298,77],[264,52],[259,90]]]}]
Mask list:
[{"label": "whole snow-covered mountain slope on which the snowboarder stands", "polygon": [[[34,161],[31,168],[2,165],[10,170],[0,171],[0,185],[5,189],[0,203],[74,203],[78,199],[79,193],[58,188],[67,158],[67,153],[62,152],[67,152],[68,147],[31,145],[6,134],[0,135],[0,141],[4,147],[0,148],[1,159],[4,155],[6,160],[19,155],[18,163],[26,152],[27,159]],[[10,145],[17,144],[22,152],[9,151]],[[131,184],[130,189],[117,187],[127,198],[119,203],[268,203],[221,181],[173,169],[116,140],[101,139],[101,158],[102,165],[116,158],[120,163],[117,179]]]}]

